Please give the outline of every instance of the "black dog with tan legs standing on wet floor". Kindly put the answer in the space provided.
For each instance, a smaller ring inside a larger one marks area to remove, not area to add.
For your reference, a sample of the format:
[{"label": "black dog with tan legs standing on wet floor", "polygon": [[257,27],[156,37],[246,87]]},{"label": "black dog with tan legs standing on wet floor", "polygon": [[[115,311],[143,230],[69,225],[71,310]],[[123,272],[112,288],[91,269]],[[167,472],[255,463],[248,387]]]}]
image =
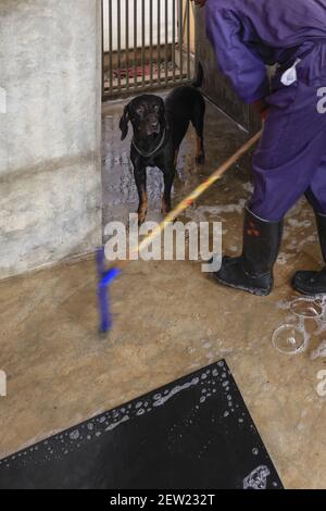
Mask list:
[{"label": "black dog with tan legs standing on wet floor", "polygon": [[158,166],[164,174],[162,213],[171,207],[171,190],[176,173],[180,144],[191,122],[197,133],[196,162],[204,162],[203,127],[205,102],[195,87],[181,86],[166,98],[141,95],[126,105],[120,122],[122,140],[128,133],[129,121],[134,128],[130,158],[139,195],[138,221],[141,224],[148,210],[146,167]]}]

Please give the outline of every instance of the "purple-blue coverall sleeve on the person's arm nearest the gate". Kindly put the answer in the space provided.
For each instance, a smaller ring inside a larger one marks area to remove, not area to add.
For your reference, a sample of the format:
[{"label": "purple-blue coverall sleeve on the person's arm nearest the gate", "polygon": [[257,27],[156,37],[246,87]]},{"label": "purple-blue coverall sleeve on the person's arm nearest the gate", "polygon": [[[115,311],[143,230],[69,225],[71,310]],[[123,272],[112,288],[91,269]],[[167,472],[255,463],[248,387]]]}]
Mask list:
[{"label": "purple-blue coverall sleeve on the person's arm nearest the gate", "polygon": [[[213,45],[218,67],[238,96],[253,103],[269,94],[266,66],[242,40],[243,27],[236,13],[216,4],[206,7],[206,34]],[[254,36],[253,36],[254,40]]]}]

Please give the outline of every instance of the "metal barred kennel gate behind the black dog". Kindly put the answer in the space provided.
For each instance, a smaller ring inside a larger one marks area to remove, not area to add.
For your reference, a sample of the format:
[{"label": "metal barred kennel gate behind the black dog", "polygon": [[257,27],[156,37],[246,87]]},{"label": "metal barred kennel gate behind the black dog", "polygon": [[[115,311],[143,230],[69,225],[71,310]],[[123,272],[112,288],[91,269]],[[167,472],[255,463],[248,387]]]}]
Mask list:
[{"label": "metal barred kennel gate behind the black dog", "polygon": [[191,80],[190,0],[102,0],[103,98]]}]

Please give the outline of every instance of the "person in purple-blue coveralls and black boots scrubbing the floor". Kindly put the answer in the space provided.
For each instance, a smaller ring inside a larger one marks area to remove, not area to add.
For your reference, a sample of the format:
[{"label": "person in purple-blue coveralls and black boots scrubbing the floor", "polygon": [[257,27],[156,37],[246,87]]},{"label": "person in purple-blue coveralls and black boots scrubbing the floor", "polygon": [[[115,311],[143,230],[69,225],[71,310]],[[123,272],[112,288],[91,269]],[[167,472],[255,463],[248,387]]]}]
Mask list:
[{"label": "person in purple-blue coveralls and black boots scrubbing the floor", "polygon": [[[224,257],[214,277],[254,295],[273,288],[283,219],[305,195],[326,262],[326,0],[195,0],[221,71],[264,117],[244,209],[241,257]],[[269,83],[266,65],[277,65]],[[325,97],[324,97],[325,99]],[[324,105],[326,102],[324,101]],[[300,271],[293,287],[326,292],[326,266]]]}]

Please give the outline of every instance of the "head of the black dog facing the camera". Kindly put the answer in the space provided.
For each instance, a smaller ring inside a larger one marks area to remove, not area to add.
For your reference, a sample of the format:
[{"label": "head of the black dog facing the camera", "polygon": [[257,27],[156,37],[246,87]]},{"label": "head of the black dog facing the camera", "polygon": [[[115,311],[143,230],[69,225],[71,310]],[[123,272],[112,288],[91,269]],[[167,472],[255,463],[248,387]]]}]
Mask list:
[{"label": "head of the black dog facing the camera", "polygon": [[133,99],[124,110],[120,121],[122,140],[128,134],[128,123],[133,124],[137,138],[159,135],[166,126],[164,101],[159,96],[142,95]]}]

